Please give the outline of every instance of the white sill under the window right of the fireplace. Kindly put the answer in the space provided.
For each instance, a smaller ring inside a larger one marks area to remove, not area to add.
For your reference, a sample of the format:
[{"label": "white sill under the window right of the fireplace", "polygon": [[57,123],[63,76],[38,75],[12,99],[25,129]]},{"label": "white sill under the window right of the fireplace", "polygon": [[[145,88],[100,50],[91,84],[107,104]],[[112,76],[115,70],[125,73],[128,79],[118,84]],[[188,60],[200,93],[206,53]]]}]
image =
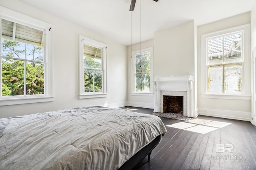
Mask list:
[{"label": "white sill under the window right of the fireplace", "polygon": [[201,94],[202,98],[213,99],[233,99],[233,100],[251,100],[251,96],[247,95],[227,95],[227,94]]}]

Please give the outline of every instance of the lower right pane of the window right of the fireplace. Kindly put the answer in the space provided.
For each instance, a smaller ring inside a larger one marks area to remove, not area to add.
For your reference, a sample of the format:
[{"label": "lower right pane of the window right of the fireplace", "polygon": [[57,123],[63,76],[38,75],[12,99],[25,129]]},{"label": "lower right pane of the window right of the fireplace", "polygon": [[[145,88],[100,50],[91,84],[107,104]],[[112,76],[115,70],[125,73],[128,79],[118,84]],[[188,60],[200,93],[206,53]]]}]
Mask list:
[{"label": "lower right pane of the window right of the fireplace", "polygon": [[225,92],[242,92],[242,64],[226,65],[224,68]]}]

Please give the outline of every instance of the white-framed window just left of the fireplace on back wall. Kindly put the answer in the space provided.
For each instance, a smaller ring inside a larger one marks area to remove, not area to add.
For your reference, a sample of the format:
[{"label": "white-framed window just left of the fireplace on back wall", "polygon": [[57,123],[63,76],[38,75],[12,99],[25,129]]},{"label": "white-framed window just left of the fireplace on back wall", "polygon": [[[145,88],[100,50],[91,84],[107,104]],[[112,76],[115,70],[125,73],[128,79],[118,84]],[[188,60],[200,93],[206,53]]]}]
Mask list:
[{"label": "white-framed window just left of the fireplace on back wall", "polygon": [[153,55],[153,47],[132,52],[132,95],[154,95]]}]

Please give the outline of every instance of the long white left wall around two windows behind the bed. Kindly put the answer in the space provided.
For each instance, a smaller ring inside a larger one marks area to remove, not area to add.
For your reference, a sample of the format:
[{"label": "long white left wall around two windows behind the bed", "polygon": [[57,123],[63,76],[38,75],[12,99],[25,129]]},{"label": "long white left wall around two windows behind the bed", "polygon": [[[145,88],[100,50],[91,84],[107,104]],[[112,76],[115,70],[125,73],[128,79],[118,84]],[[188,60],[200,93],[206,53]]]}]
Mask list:
[{"label": "long white left wall around two windows behind the bed", "polygon": [[[117,107],[126,105],[126,46],[20,1],[1,1],[1,6],[54,25],[54,102],[1,106],[0,117],[26,115],[78,106]],[[106,98],[78,98],[78,35],[108,45],[108,96]]]}]

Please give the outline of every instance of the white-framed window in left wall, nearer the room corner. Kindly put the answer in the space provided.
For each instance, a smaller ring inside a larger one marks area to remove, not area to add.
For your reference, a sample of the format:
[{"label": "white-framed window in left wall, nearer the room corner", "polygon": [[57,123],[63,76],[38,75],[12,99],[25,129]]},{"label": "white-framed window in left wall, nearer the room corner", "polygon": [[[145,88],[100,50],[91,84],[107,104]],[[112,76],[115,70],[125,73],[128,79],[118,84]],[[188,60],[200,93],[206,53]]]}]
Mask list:
[{"label": "white-framed window in left wall, nearer the room corner", "polygon": [[79,36],[80,98],[106,97],[106,44]]}]

